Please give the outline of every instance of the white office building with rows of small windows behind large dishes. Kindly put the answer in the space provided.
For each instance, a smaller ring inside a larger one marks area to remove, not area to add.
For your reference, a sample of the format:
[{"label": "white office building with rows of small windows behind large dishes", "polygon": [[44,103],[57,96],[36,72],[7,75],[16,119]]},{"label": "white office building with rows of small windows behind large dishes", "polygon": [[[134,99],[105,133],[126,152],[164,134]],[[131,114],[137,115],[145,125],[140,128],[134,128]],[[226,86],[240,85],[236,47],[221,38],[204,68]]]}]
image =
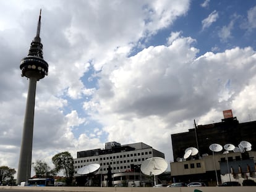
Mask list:
[{"label": "white office building with rows of small windows behind large dishes", "polygon": [[[122,177],[117,175],[114,180],[113,184],[116,184],[123,181],[124,178],[126,178],[126,180],[141,180],[142,174],[140,173],[140,165],[143,161],[151,157],[164,158],[164,154],[145,143],[121,145],[113,141],[106,143],[105,149],[92,149],[77,152],[77,159],[74,159],[74,167],[75,170],[79,170],[86,165],[100,164],[100,169],[95,175],[101,175],[100,180],[103,180],[103,183],[106,183],[104,181],[106,180],[106,175],[110,167],[112,174],[122,173]],[[129,177],[126,177],[127,175],[129,175]],[[77,171],[74,176],[77,180],[79,180],[79,177],[83,177],[83,175],[79,175]],[[117,180],[117,178],[120,178],[120,180]]]}]

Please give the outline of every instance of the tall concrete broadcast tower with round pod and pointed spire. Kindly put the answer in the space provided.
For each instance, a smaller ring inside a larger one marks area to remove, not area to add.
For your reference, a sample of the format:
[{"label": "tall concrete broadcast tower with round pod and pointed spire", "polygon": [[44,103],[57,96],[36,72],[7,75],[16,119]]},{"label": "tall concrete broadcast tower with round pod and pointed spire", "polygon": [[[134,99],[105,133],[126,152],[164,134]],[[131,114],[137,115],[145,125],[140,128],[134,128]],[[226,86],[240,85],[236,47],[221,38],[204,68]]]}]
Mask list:
[{"label": "tall concrete broadcast tower with round pod and pointed spire", "polygon": [[33,39],[28,56],[20,62],[22,77],[29,78],[27,106],[23,124],[22,143],[20,145],[20,159],[17,174],[17,184],[25,182],[31,177],[32,165],[32,144],[33,144],[33,124],[35,112],[36,81],[48,75],[48,64],[43,60],[43,44],[40,38],[41,10],[38,19],[36,36]]}]

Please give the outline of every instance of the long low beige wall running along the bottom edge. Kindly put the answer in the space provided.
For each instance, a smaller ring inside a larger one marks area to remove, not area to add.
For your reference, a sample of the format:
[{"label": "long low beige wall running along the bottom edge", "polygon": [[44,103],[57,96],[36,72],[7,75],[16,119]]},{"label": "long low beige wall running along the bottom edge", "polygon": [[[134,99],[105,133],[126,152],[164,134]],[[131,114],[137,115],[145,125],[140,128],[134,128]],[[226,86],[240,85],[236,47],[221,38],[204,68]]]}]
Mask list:
[{"label": "long low beige wall running along the bottom edge", "polygon": [[194,192],[195,189],[203,192],[255,192],[256,186],[205,186],[205,187],[71,187],[71,186],[0,186],[0,189],[11,190],[38,190],[38,191],[86,191],[86,192]]}]

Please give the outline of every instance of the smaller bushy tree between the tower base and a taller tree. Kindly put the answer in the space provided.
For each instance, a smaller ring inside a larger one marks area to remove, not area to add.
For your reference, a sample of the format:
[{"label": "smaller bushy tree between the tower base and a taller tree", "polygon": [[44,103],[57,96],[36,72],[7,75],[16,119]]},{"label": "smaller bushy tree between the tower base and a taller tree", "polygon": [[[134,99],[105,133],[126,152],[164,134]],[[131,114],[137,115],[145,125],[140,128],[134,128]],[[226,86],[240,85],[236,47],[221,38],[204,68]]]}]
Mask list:
[{"label": "smaller bushy tree between the tower base and a taller tree", "polygon": [[33,168],[36,173],[36,177],[52,177],[54,175],[53,170],[49,167],[49,165],[46,162],[43,162],[41,160],[37,160],[33,164]]}]

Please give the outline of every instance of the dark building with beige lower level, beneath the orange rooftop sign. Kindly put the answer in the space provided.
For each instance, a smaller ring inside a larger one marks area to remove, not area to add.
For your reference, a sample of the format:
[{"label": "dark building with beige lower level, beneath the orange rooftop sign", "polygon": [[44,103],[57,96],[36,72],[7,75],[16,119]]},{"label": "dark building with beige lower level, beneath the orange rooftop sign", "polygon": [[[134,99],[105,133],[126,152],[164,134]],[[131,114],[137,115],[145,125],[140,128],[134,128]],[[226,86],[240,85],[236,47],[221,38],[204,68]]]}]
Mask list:
[{"label": "dark building with beige lower level, beneath the orange rooftop sign", "polygon": [[[224,114],[224,112],[223,112]],[[255,180],[256,121],[239,123],[236,117],[225,116],[221,122],[195,125],[184,133],[171,135],[174,162],[171,163],[173,182],[201,181],[208,185],[237,181],[245,178]],[[248,151],[213,152],[209,146],[218,143],[239,146],[248,141],[252,148]],[[187,148],[197,148],[198,154],[184,159]]]}]

